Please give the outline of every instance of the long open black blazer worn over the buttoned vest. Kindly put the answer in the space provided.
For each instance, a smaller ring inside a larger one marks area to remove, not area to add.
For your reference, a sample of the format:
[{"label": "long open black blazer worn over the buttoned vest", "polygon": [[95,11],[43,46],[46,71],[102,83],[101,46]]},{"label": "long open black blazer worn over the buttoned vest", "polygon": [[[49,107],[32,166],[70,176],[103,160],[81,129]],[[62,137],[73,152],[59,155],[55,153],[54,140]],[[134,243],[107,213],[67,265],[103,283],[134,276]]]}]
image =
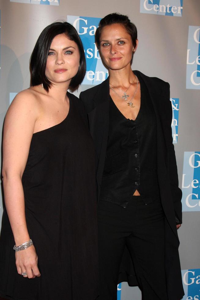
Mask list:
[{"label": "long open black blazer worn over the buttoned vest", "polygon": [[[156,77],[148,77],[139,71],[134,71],[134,73],[136,75],[139,73],[146,84],[156,114],[157,175],[161,203],[165,212],[166,278],[171,290],[168,291],[168,295],[171,295],[169,298],[177,300],[184,294],[178,255],[179,238],[176,229],[176,224],[182,223],[182,191],[178,187],[176,157],[172,143],[172,105],[169,100],[169,83]],[[109,130],[109,78],[102,84],[81,92],[80,99],[87,111],[89,129],[94,140],[99,198]],[[127,251],[124,253],[121,265],[120,281],[128,281],[130,285],[137,284]]]}]

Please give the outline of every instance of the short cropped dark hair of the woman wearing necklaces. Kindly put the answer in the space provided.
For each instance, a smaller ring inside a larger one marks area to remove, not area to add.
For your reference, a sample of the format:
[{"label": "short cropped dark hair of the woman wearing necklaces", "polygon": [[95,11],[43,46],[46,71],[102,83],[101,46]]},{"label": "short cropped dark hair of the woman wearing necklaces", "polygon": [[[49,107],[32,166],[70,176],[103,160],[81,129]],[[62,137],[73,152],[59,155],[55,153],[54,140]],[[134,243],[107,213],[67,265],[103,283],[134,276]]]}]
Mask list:
[{"label": "short cropped dark hair of the woman wearing necklaces", "polygon": [[100,37],[102,33],[102,29],[107,25],[112,24],[121,24],[124,26],[128,34],[130,34],[133,47],[136,47],[136,39],[138,37],[137,28],[135,24],[133,24],[128,16],[120,15],[119,13],[110,13],[99,22],[99,27],[96,30],[95,38],[98,49],[100,48]]}]

